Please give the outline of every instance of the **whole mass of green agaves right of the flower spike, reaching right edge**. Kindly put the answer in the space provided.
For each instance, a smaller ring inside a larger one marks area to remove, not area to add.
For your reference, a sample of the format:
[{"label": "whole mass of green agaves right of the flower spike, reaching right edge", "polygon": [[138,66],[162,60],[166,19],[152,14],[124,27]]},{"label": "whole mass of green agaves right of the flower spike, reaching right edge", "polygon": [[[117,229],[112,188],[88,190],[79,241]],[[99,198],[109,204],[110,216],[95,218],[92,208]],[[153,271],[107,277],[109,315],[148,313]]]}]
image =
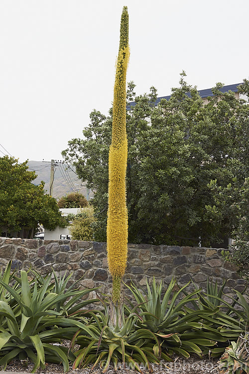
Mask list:
[{"label": "whole mass of green agaves right of the flower spike, reaching right edge", "polygon": [[[245,297],[236,291],[237,298],[231,298],[231,303],[225,302],[222,299],[225,285],[226,281],[219,288],[217,282],[214,284],[208,280],[208,293],[197,288],[188,293],[185,290],[188,284],[173,292],[176,282],[172,279],[162,295],[162,282],[156,284],[153,280],[151,289],[147,284],[147,292],[131,283],[128,288],[142,318],[142,321],[137,321],[137,326],[154,333],[175,333],[161,343],[162,349],[169,355],[174,352],[185,358],[192,353],[220,356],[227,342],[237,340],[248,330],[249,323],[249,307]],[[189,307],[190,303],[193,309]],[[129,308],[126,309],[129,313]]]}]

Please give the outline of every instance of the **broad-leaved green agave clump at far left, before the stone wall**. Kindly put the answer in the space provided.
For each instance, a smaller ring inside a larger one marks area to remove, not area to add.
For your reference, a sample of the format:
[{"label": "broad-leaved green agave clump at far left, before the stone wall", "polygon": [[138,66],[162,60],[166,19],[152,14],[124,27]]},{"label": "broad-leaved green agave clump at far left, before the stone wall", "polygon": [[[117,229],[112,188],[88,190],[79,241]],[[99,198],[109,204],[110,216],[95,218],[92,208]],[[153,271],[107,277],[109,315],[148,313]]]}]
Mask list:
[{"label": "broad-leaved green agave clump at far left, before the stone wall", "polygon": [[[8,273],[9,267],[5,275]],[[73,353],[60,343],[61,339],[72,338],[84,324],[65,316],[79,313],[79,308],[96,300],[75,307],[76,301],[91,290],[65,290],[69,277],[58,279],[54,273],[55,282],[51,284],[51,276],[52,273],[45,278],[35,276],[29,281],[21,270],[20,278],[14,275],[14,286],[8,284],[7,275],[0,279],[0,287],[5,290],[0,300],[0,367],[5,368],[14,359],[30,359],[34,363],[32,373],[44,368],[45,361],[62,363],[67,372],[68,360],[75,360]]]}]

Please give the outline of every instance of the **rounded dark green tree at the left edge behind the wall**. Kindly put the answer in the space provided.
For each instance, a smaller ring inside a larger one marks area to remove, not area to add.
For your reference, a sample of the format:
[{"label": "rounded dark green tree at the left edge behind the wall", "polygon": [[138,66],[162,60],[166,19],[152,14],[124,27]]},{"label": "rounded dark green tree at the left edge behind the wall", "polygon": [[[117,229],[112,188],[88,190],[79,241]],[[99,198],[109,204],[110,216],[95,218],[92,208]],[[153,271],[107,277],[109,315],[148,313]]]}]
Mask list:
[{"label": "rounded dark green tree at the left edge behind the wall", "polygon": [[28,171],[27,162],[4,156],[0,158],[0,227],[8,233],[23,226],[54,229],[63,225],[55,198],[44,193],[44,183],[36,186],[35,172]]}]

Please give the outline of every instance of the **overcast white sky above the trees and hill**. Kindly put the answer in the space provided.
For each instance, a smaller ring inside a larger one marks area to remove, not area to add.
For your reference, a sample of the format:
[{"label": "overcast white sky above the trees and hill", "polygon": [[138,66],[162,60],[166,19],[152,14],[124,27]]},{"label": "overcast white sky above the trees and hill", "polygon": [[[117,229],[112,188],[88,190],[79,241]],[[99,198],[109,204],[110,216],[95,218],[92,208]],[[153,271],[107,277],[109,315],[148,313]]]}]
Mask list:
[{"label": "overcast white sky above the trees and hill", "polygon": [[249,77],[249,0],[0,0],[0,156],[62,159],[108,114],[123,5],[137,94],[169,95],[182,70],[198,89]]}]

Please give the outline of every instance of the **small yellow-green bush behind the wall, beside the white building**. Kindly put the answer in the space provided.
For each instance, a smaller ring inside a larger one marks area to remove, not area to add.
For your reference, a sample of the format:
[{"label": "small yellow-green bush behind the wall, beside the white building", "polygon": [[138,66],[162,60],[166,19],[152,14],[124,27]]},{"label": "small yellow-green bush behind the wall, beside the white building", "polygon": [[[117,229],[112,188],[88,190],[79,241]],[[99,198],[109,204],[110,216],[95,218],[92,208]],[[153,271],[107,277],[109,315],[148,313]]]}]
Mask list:
[{"label": "small yellow-green bush behind the wall, beside the white building", "polygon": [[[69,217],[67,217],[69,219]],[[72,223],[69,226],[69,232],[74,240],[94,240],[94,222],[96,217],[92,206],[82,208],[81,212],[71,216]]]}]

